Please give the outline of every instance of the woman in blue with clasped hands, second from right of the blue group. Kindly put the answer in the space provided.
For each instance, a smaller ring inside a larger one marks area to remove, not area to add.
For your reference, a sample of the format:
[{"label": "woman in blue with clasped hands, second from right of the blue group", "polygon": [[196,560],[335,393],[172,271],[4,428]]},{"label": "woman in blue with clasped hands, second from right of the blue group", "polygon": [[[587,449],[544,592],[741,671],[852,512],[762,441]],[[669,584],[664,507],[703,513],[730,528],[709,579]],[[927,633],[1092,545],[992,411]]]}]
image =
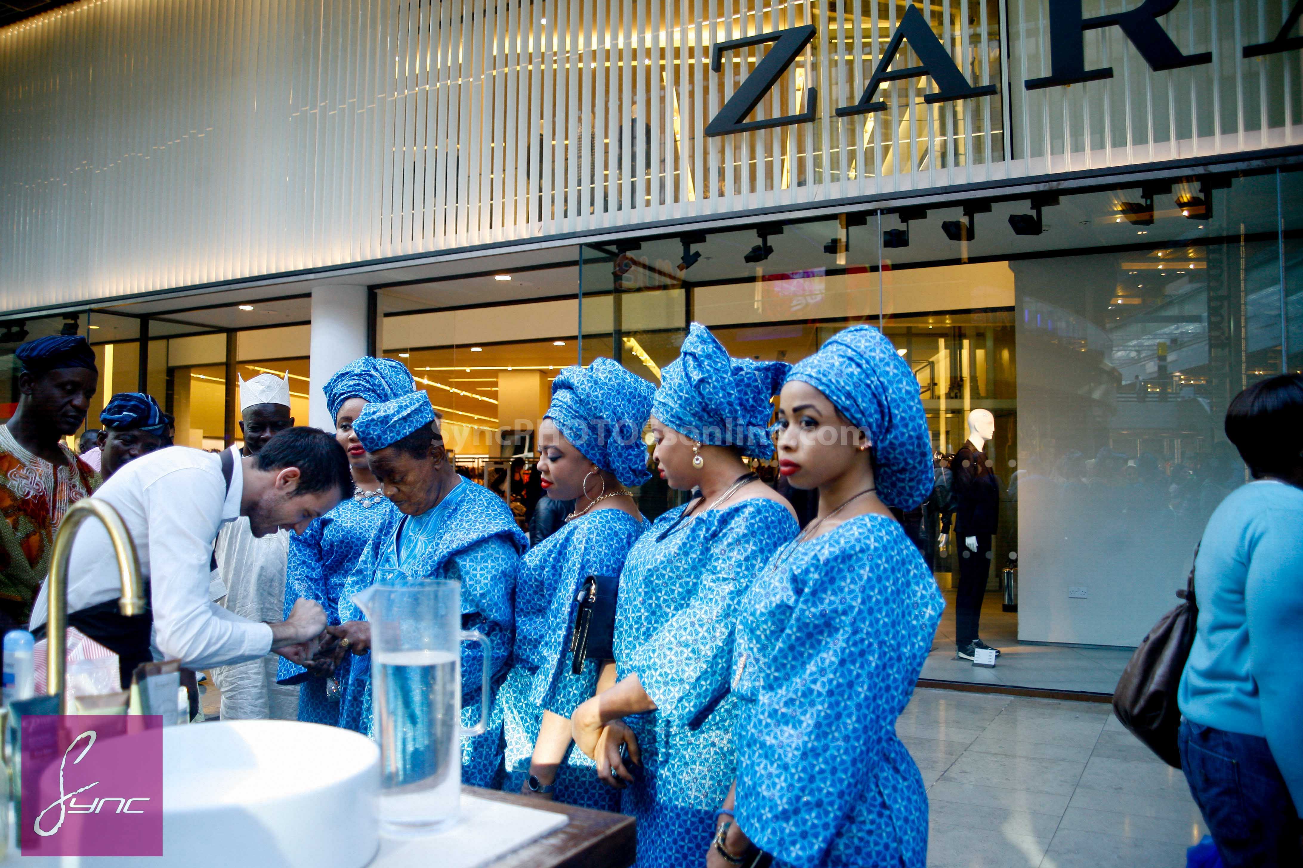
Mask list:
[{"label": "woman in blue with clasped hands, second from right of the blue group", "polygon": [[571,717],[576,743],[637,819],[642,868],[700,864],[732,778],[737,707],[727,694],[739,603],[799,530],[787,501],[743,462],[773,454],[766,424],[787,367],[732,359],[693,323],[652,406],[662,476],[700,496],[658,518],[629,552],[616,609],[619,682]]}]

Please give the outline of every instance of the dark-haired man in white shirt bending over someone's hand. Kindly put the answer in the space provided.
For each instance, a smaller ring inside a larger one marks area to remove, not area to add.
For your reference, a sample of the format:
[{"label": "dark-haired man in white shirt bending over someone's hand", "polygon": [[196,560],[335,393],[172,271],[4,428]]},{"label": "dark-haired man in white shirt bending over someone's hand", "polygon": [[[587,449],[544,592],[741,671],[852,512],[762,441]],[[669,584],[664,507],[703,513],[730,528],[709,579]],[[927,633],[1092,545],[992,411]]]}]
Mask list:
[{"label": "dark-haired man in white shirt bending over someone's hand", "polygon": [[[185,446],[137,458],[95,496],[119,511],[136,543],[151,610],[136,618],[117,613],[113,549],[103,527],[87,522],[73,544],[68,621],[117,652],[124,673],[151,658],[207,669],[268,651],[302,657],[326,629],[321,605],[300,600],[287,619],[265,623],[227,612],[208,596],[212,544],[240,515],[254,536],[302,531],[352,491],[348,457],[317,428],[284,431],[246,458]],[[42,586],[33,629],[46,622],[47,593]]]}]

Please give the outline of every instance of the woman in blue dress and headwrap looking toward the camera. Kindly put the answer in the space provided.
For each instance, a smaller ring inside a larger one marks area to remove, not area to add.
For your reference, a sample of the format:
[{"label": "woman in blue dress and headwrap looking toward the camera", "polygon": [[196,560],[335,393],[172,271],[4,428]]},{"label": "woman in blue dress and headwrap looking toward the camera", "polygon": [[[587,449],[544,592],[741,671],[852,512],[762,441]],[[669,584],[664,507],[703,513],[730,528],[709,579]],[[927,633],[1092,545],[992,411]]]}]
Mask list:
[{"label": "woman in blue dress and headwrap looking toward the camera", "polygon": [[928,795],[895,721],[945,603],[889,509],[933,485],[919,383],[856,325],[792,368],[777,427],[779,472],[820,508],[743,603],[736,793],[706,864],[758,847],[779,867],[923,868]]}]

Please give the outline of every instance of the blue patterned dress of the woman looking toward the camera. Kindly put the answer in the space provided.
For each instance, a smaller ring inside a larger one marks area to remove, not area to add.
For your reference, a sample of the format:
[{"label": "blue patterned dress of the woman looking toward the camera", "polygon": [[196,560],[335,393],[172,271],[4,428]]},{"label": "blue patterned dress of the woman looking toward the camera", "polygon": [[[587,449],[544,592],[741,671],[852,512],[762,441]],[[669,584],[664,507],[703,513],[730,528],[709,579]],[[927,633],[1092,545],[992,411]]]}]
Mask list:
[{"label": "blue patterned dress of the woman looking toward the camera", "polygon": [[943,608],[883,515],[786,547],[756,579],[734,665],[736,820],[775,867],[926,864],[928,794],[895,721]]}]

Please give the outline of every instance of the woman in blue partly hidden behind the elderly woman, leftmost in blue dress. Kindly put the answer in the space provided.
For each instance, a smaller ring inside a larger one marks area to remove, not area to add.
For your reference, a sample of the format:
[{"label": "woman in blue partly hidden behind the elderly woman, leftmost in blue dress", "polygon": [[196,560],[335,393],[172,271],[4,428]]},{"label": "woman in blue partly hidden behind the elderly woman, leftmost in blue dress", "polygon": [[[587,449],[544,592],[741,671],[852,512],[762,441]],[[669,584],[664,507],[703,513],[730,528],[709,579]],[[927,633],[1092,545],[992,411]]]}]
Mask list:
[{"label": "woman in blue partly hidden behind the elderly woman, leftmost in blue dress", "polygon": [[310,670],[284,657],[276,681],[298,685],[298,720],[309,724],[328,724],[365,731],[361,725],[362,696],[349,679],[352,668],[347,631],[339,629],[339,601],[344,579],[357,565],[358,557],[377,528],[387,523],[396,511],[384,497],[375,476],[366,463],[353,431],[353,422],[362,407],[373,401],[390,401],[414,389],[412,375],[394,359],[370,355],[349,362],[332,376],[322,392],[326,406],[335,419],[335,439],[348,453],[348,463],[357,487],[353,497],[326,513],[302,534],[289,537],[289,565],[285,573],[285,617],[298,597],[308,597],[326,609],[326,623],[334,627],[336,645],[334,656],[327,656]]}]

